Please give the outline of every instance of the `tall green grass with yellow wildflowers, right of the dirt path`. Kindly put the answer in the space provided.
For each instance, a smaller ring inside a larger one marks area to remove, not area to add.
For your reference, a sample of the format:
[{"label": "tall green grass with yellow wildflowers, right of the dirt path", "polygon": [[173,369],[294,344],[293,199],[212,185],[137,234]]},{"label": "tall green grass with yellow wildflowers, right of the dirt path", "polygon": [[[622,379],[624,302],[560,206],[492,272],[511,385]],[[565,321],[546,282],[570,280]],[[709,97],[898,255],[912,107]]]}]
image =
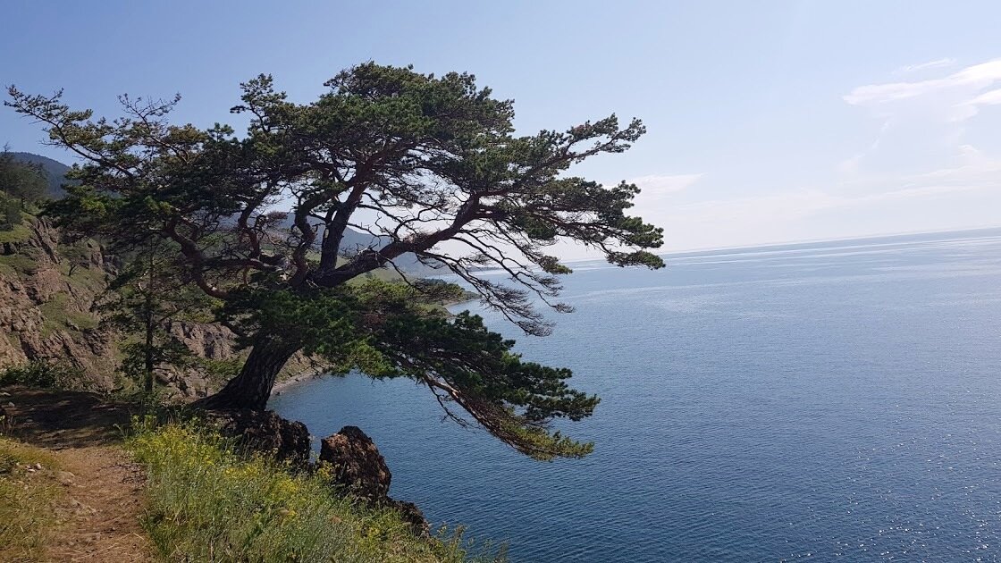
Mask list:
[{"label": "tall green grass with yellow wildflowers, right of the dirt path", "polygon": [[323,468],[293,474],[191,422],[137,428],[129,448],[148,471],[142,525],[163,560],[470,560],[460,533],[417,538],[395,512],[341,496]]}]

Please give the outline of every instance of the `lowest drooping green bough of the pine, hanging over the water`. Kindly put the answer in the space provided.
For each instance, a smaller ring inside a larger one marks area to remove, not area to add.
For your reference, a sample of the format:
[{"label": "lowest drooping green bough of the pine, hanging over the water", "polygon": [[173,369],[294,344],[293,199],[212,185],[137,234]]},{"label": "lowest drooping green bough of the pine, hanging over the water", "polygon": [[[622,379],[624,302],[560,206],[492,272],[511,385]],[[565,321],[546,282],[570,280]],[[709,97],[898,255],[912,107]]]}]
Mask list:
[{"label": "lowest drooping green bough of the pine, hanging over the water", "polygon": [[515,341],[468,312],[449,316],[433,307],[452,285],[416,287],[369,279],[323,292],[254,292],[222,311],[245,334],[281,335],[323,358],[334,373],[410,378],[435,395],[462,425],[458,407],[491,434],[540,460],[582,457],[591,444],[548,431],[557,417],[581,420],[599,403],[567,384],[571,371],[523,362]]}]

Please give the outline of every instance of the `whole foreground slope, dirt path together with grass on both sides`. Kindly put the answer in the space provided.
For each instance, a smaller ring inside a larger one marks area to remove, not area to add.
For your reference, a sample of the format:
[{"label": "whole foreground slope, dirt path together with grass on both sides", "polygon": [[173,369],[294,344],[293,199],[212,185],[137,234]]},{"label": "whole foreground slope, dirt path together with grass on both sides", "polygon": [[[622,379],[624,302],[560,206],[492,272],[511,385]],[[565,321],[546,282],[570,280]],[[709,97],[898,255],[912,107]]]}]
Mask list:
[{"label": "whole foreground slope, dirt path together with grass on both sides", "polygon": [[[81,405],[89,414],[47,417],[26,409],[50,403],[65,409],[67,394],[6,389],[20,405],[17,420],[26,421],[17,425],[18,435],[66,449],[52,452],[0,435],[0,561],[62,560],[81,550],[139,560],[147,546],[163,561],[503,560],[471,556],[460,533],[415,537],[394,511],[372,510],[341,494],[325,469],[294,473],[267,458],[238,454],[196,423],[155,426],[152,418],[143,419],[125,443],[127,455],[120,438],[98,436],[108,430],[107,417],[127,417],[127,410]],[[74,397],[84,395],[91,397]],[[38,416],[25,418],[33,413]],[[65,430],[77,423],[86,428]],[[123,477],[135,470],[115,473],[133,465],[133,457],[146,476],[142,485]],[[72,480],[69,489],[64,473]],[[76,514],[66,491],[83,502],[78,506],[95,510]],[[477,553],[487,549],[482,545]]]}]

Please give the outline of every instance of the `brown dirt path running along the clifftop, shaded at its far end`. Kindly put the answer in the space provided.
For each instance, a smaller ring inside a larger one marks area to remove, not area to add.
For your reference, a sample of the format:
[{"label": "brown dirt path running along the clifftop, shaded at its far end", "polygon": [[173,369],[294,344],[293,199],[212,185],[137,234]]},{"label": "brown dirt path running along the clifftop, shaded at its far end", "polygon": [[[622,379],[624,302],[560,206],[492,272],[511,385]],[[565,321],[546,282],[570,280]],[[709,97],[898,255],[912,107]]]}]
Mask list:
[{"label": "brown dirt path running along the clifftop, shaded at its far end", "polygon": [[23,388],[0,390],[11,434],[48,448],[59,463],[64,495],[46,561],[151,561],[139,527],[142,470],[116,443],[132,409],[95,395]]}]

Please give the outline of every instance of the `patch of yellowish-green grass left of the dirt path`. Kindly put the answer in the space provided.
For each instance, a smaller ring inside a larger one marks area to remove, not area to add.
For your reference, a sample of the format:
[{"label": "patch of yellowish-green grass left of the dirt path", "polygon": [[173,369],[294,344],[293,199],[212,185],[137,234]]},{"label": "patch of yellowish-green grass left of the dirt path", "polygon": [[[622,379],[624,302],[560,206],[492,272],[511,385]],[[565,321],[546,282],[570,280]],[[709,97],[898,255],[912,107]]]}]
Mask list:
[{"label": "patch of yellowish-green grass left of the dirt path", "polygon": [[[42,471],[28,472],[36,463]],[[43,546],[56,525],[52,505],[62,492],[57,469],[44,450],[0,436],[0,561],[45,560]]]}]

